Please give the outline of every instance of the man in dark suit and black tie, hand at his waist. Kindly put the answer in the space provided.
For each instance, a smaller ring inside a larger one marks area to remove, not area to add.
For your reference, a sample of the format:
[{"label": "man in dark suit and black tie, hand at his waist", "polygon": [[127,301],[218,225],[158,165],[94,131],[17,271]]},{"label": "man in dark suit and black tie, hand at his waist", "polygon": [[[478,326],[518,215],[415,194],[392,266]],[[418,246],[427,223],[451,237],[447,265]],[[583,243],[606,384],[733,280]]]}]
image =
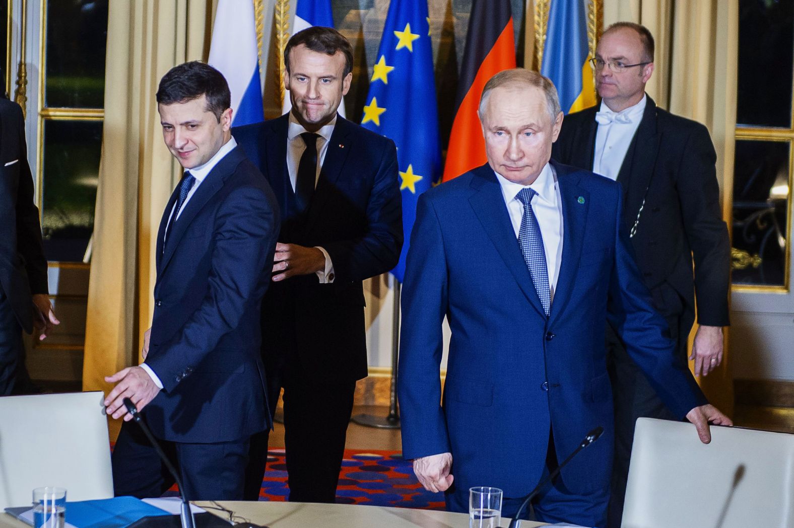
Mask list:
[{"label": "man in dark suit and black tie, hand at his waist", "polygon": [[[361,281],[391,270],[403,246],[395,144],[337,115],[353,50],[331,28],[295,33],[284,51],[292,109],[233,130],[283,212],[262,335],[271,410],[284,389],[290,500],[333,503],[353,411],[367,376]],[[252,441],[246,499],[259,497],[267,432]]]}]

